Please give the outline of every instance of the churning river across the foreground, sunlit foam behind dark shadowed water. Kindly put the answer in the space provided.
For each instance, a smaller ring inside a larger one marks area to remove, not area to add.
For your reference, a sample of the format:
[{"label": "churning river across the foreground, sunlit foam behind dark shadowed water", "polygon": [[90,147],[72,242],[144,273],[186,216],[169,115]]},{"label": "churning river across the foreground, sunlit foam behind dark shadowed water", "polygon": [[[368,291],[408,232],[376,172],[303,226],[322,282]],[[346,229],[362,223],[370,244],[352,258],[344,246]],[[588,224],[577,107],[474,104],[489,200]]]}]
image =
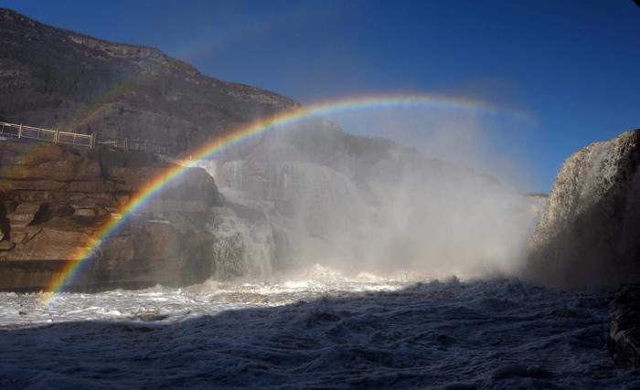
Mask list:
[{"label": "churning river across the foreground, sunlit foam behind dark shadowed water", "polygon": [[606,291],[346,277],[0,296],[2,388],[637,388]]}]

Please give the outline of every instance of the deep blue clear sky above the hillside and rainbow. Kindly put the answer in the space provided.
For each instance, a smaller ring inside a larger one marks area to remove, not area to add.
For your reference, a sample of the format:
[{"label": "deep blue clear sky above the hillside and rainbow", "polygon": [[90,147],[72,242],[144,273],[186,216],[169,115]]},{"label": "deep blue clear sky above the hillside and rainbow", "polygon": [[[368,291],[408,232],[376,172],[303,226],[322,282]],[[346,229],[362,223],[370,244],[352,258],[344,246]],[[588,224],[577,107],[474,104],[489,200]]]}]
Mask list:
[{"label": "deep blue clear sky above the hillside and rainbow", "polygon": [[209,76],[303,103],[438,92],[528,111],[535,121],[478,126],[488,128],[485,152],[526,167],[527,184],[520,185],[532,191],[549,191],[562,161],[582,146],[640,127],[640,7],[631,0],[0,6],[52,26],[158,47]]}]

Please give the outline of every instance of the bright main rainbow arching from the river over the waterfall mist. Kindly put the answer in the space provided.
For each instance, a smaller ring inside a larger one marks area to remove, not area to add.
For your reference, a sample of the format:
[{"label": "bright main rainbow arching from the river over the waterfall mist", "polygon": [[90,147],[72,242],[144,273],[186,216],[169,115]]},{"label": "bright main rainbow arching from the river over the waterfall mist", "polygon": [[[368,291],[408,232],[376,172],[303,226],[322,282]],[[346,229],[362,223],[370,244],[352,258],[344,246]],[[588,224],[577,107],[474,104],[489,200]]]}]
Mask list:
[{"label": "bright main rainbow arching from the river over the waterfall mist", "polygon": [[[47,289],[47,291],[51,293],[43,295],[43,306],[47,306],[52,300],[54,300],[56,294],[60,290],[63,290],[64,287],[80,273],[82,266],[88,262],[87,260],[90,259],[96,249],[100,247],[102,240],[112,235],[112,233],[114,233],[118,227],[122,226],[124,221],[132,216],[136,210],[151,200],[154,195],[156,195],[165,186],[165,184],[171,182],[177,176],[184,173],[187,168],[194,166],[197,161],[211,158],[222,148],[246,140],[252,135],[267,132],[279,126],[300,121],[305,118],[329,115],[343,111],[394,107],[423,107],[426,109],[477,111],[483,113],[497,113],[500,111],[495,106],[481,100],[454,99],[438,95],[379,95],[328,101],[305,108],[283,111],[282,113],[276,114],[270,118],[252,122],[239,130],[229,132],[224,137],[216,139],[213,142],[209,142],[196,153],[193,153],[190,159],[183,160],[175,166],[168,168],[163,174],[159,174],[153,180],[144,185],[144,188],[136,195],[133,195],[133,198],[129,203],[120,209],[120,216],[112,216],[111,219],[98,230],[95,236],[91,238],[89,246],[82,248],[75,253],[69,260],[69,264],[61,271],[59,276],[51,280]],[[526,116],[526,114],[519,111],[507,112],[515,117]]]}]

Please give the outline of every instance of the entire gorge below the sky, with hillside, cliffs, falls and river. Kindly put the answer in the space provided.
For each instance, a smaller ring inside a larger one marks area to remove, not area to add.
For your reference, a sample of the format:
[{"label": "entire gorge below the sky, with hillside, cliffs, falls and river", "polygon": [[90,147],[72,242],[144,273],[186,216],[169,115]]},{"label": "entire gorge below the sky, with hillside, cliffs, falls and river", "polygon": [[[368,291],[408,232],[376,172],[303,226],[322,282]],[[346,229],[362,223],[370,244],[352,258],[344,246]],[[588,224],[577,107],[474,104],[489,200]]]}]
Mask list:
[{"label": "entire gorge below the sky, with hillside, cliffs, falls and river", "polygon": [[[0,387],[640,386],[640,131],[523,195],[155,48],[0,22],[0,121],[154,145],[0,137]],[[488,110],[322,107],[415,101]]]}]

